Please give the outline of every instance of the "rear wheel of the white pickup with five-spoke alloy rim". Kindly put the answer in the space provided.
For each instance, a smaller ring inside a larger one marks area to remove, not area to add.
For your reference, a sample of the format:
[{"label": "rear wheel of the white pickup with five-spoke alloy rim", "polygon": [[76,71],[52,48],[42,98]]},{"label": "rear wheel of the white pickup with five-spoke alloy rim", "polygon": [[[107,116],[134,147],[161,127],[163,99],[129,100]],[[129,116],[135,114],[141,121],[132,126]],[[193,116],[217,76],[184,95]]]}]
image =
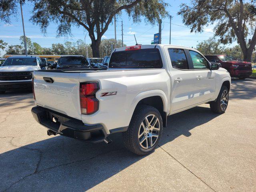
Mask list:
[{"label": "rear wheel of the white pickup with five-spoke alloy rim", "polygon": [[152,106],[141,106],[134,112],[128,130],[122,133],[124,146],[138,155],[152,152],[161,138],[162,117]]}]

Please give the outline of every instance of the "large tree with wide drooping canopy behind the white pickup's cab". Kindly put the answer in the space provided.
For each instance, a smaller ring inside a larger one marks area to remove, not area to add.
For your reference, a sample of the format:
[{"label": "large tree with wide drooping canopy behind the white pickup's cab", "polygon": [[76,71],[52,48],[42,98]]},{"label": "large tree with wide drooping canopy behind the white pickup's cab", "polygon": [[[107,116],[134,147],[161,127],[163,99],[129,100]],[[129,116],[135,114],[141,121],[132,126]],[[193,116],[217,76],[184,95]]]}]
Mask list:
[{"label": "large tree with wide drooping canopy behind the white pickup's cab", "polygon": [[140,16],[150,24],[155,24],[161,17],[167,16],[167,3],[164,0],[34,0],[32,21],[39,24],[42,31],[53,21],[58,24],[59,36],[71,34],[71,26],[81,26],[88,31],[92,41],[94,57],[100,56],[100,42],[103,34],[115,15],[122,10],[134,22],[140,22]]}]

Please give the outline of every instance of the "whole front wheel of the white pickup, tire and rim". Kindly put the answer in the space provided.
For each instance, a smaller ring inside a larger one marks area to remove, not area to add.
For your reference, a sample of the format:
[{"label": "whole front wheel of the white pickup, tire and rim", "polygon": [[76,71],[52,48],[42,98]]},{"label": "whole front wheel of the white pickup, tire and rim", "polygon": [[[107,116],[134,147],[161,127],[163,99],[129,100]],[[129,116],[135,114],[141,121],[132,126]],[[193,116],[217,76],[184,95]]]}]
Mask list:
[{"label": "whole front wheel of the white pickup, tire and rim", "polygon": [[210,102],[210,108],[214,113],[222,114],[228,107],[228,88],[222,86],[216,101]]}]

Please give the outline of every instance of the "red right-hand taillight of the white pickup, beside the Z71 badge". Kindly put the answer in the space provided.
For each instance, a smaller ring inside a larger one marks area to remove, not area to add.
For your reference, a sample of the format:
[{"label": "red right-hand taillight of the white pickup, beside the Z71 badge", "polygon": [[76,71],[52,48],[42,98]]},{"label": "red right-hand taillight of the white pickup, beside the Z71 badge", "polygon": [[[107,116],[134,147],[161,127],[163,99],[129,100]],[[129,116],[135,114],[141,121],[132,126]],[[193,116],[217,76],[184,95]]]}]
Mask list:
[{"label": "red right-hand taillight of the white pickup, beside the Z71 badge", "polygon": [[89,115],[98,110],[99,101],[95,94],[99,89],[98,82],[80,83],[81,114]]}]

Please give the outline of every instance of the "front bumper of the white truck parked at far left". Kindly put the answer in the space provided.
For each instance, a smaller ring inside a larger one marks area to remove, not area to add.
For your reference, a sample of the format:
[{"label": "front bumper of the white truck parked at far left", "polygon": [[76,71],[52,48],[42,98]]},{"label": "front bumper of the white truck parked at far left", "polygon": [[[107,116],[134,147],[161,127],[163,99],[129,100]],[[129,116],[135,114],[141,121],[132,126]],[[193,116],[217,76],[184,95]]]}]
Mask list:
[{"label": "front bumper of the white truck parked at far left", "polygon": [[0,82],[0,90],[32,89],[32,81]]}]

